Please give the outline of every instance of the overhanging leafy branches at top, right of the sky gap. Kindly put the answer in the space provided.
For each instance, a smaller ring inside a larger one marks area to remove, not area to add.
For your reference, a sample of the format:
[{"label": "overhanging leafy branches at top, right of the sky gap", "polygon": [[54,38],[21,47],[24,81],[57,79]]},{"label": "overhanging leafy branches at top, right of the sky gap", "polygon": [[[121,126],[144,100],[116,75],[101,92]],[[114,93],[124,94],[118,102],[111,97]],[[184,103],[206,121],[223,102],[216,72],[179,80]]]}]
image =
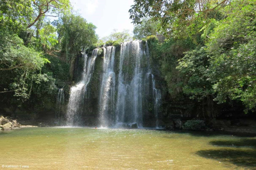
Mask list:
[{"label": "overhanging leafy branches at top, right of the sky gap", "polygon": [[[218,11],[227,5],[230,5],[229,0],[135,0],[129,12],[134,24],[141,24],[143,18],[149,17],[159,22],[158,30],[166,36],[179,36],[188,26],[197,24],[201,29],[208,24],[206,18],[218,17]],[[196,34],[199,30],[189,31]]]}]

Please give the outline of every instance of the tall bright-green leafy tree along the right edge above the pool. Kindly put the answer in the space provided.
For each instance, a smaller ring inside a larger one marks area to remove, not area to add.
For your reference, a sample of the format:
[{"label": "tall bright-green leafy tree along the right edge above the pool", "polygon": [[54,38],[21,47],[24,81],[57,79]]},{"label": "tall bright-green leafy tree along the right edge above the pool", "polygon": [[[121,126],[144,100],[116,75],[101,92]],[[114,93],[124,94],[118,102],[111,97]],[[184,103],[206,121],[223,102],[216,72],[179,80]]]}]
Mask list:
[{"label": "tall bright-green leafy tree along the right edge above the pool", "polygon": [[[255,1],[247,1],[214,29],[207,44],[210,79],[217,92],[216,101],[241,100],[245,112],[256,108],[256,12]],[[238,12],[239,11],[239,12]]]}]

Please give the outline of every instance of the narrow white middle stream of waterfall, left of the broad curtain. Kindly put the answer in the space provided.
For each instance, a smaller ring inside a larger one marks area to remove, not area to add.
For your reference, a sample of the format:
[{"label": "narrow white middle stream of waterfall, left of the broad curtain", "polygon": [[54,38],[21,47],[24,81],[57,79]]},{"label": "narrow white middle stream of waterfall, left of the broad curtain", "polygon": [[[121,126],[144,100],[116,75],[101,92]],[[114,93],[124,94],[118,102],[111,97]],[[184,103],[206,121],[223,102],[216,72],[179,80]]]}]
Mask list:
[{"label": "narrow white middle stream of waterfall, left of the broad curtain", "polygon": [[[114,59],[115,47],[109,46],[103,48],[103,74],[100,88],[99,104],[100,104],[100,123],[101,126],[108,126],[108,120],[114,116],[114,100],[115,100],[115,73]],[[110,115],[109,115],[110,114]]]}]

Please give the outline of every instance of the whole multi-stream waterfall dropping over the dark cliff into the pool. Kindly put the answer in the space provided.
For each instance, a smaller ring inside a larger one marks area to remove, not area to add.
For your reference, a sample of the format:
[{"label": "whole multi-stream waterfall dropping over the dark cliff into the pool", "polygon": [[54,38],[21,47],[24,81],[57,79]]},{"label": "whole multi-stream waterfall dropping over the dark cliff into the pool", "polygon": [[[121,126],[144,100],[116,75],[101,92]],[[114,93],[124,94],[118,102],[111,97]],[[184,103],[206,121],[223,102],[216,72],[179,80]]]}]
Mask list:
[{"label": "whole multi-stream waterfall dropping over the dark cliff into the pool", "polygon": [[71,88],[66,125],[81,125],[83,114],[90,125],[159,127],[161,91],[152,74],[147,42],[125,42],[120,51],[114,46],[102,49],[97,64],[98,49],[91,57],[83,55],[83,76]]}]

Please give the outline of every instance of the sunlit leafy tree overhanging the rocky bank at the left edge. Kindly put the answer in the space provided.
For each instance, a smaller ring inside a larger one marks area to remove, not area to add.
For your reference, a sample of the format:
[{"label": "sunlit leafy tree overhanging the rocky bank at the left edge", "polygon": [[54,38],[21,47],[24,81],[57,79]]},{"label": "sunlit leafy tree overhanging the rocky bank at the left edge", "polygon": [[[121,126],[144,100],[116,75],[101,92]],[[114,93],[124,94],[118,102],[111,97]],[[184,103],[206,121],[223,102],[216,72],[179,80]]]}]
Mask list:
[{"label": "sunlit leafy tree overhanging the rocky bank at the left edge", "polygon": [[13,91],[17,100],[23,102],[30,97],[33,84],[54,81],[46,76],[43,79],[39,72],[44,64],[50,61],[42,58],[35,50],[25,47],[17,35],[1,35],[0,42],[1,82],[4,83],[1,88],[4,88],[4,91]]}]

